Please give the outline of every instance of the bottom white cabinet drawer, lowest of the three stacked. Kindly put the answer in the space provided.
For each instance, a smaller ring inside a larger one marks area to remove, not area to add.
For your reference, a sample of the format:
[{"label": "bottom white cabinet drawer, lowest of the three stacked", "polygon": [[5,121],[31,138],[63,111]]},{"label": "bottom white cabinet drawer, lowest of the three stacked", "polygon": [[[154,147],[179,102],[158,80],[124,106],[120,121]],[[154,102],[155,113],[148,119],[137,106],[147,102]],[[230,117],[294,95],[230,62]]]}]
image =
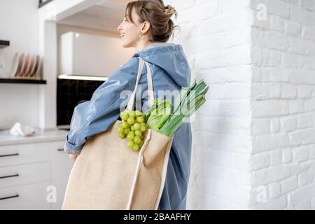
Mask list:
[{"label": "bottom white cabinet drawer, lowest of the three stacked", "polygon": [[34,183],[25,186],[0,189],[0,210],[36,209],[48,210],[50,203],[46,200],[50,182]]}]

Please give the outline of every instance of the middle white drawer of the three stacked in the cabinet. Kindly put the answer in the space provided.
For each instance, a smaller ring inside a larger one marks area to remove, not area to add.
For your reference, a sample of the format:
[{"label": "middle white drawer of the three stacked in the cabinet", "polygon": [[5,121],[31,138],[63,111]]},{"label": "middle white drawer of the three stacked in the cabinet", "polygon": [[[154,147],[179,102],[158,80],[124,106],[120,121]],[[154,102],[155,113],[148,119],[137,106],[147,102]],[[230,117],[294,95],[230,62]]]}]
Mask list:
[{"label": "middle white drawer of the three stacked in the cabinet", "polygon": [[50,180],[50,163],[0,167],[0,188]]}]

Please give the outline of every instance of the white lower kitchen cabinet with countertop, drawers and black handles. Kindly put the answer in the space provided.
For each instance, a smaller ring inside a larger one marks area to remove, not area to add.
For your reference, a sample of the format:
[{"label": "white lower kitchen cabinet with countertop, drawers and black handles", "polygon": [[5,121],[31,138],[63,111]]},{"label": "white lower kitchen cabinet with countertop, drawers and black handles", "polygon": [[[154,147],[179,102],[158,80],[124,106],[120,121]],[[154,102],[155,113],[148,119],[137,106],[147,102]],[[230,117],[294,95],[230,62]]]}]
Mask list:
[{"label": "white lower kitchen cabinet with countertop, drawers and black handles", "polygon": [[63,151],[63,138],[38,139],[1,142],[0,209],[62,208],[73,162]]}]

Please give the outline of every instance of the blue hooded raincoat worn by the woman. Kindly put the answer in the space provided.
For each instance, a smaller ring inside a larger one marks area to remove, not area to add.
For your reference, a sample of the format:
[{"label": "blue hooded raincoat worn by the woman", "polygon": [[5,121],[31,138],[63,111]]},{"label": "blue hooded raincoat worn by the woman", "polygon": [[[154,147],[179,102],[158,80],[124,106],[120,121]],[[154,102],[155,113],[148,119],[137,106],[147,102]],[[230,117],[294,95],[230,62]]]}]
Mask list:
[{"label": "blue hooded raincoat worn by the woman", "polygon": [[[160,98],[159,90],[172,92],[190,86],[190,67],[182,46],[174,43],[151,43],[120,66],[120,69],[95,90],[90,101],[76,106],[64,151],[71,154],[80,153],[87,139],[94,134],[104,132],[118,120],[120,109],[127,106],[127,100],[122,99],[120,93],[123,90],[134,90],[139,66],[138,57],[149,62],[155,97]],[[146,66],[139,84],[141,89],[137,94],[148,90]],[[146,112],[147,97],[141,97],[141,104],[143,104],[143,112]],[[183,123],[174,134],[159,210],[186,209],[191,140],[190,123]]]}]

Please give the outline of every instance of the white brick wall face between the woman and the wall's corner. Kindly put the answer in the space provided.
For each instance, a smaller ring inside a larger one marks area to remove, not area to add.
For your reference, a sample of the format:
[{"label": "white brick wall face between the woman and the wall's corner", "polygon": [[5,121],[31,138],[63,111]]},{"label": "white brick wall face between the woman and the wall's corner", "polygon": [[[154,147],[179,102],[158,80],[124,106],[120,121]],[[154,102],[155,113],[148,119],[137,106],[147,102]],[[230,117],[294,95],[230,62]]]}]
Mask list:
[{"label": "white brick wall face between the woman and the wall's corner", "polygon": [[250,0],[165,1],[179,11],[193,78],[210,85],[193,123],[187,209],[246,209],[251,193]]}]

